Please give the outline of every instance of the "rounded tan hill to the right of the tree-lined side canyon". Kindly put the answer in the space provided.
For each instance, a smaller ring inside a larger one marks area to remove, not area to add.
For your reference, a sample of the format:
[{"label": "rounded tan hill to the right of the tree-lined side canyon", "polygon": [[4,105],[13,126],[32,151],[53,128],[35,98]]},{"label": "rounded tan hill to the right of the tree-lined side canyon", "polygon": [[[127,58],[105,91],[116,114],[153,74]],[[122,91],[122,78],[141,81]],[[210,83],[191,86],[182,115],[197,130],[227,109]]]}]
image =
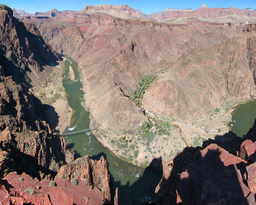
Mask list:
[{"label": "rounded tan hill to the right of the tree-lined side canyon", "polygon": [[255,55],[249,52],[255,50],[254,41],[255,35],[243,33],[211,49],[185,52],[158,75],[144,95],[144,108],[192,121],[229,98],[255,93]]}]

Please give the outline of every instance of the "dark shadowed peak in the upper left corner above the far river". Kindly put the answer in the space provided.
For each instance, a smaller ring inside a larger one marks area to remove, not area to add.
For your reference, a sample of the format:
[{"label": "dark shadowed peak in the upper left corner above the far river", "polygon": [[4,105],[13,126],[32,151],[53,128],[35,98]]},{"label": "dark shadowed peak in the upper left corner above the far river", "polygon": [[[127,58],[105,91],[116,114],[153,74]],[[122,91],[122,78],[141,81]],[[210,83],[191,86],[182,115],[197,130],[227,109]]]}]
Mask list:
[{"label": "dark shadowed peak in the upper left corner above the far river", "polygon": [[[14,61],[14,64],[22,69],[25,69],[27,64],[40,68],[58,59],[57,54],[43,40],[35,24],[16,19],[11,8],[3,4],[0,5],[0,26],[2,66],[8,66]],[[8,71],[5,70],[7,75],[15,74]]]}]

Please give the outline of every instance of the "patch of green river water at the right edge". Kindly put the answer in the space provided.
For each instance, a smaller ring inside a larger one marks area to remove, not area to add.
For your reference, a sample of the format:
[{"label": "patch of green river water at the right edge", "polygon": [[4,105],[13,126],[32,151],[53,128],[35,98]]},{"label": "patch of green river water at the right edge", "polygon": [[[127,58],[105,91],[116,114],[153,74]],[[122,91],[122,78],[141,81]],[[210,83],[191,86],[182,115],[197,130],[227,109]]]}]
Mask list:
[{"label": "patch of green river water at the right edge", "polygon": [[[245,104],[237,105],[233,108],[231,130],[239,137],[244,137],[253,126],[256,118],[256,100]],[[235,121],[235,122],[234,122]]]}]

